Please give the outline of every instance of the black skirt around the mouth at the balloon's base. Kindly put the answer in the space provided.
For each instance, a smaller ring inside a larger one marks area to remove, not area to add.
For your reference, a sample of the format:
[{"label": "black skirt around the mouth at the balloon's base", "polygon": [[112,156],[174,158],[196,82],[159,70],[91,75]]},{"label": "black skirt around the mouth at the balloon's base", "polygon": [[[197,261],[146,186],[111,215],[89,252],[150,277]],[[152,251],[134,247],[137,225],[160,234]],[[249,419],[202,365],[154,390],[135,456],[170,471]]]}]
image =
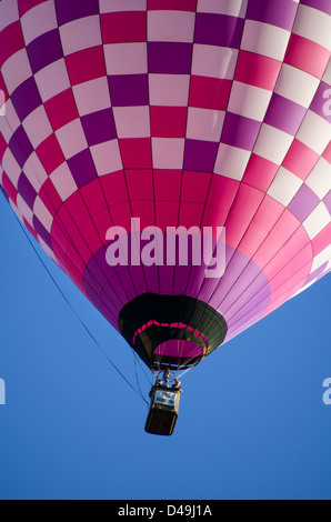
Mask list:
[{"label": "black skirt around the mouth at the balloon's base", "polygon": [[144,293],[122,308],[119,329],[150,369],[175,371],[198,364],[222,344],[228,324],[199,299]]}]

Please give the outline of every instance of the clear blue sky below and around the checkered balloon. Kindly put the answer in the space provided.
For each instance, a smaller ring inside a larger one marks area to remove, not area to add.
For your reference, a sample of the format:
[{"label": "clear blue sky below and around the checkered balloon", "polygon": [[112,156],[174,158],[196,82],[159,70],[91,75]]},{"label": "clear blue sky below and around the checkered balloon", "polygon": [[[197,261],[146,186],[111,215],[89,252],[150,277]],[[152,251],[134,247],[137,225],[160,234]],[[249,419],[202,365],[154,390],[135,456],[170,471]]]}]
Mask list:
[{"label": "clear blue sky below and around the checkered balloon", "polygon": [[[331,500],[330,275],[187,373],[175,433],[160,438],[2,197],[0,223],[0,499]],[[129,347],[42,257],[137,388]]]}]

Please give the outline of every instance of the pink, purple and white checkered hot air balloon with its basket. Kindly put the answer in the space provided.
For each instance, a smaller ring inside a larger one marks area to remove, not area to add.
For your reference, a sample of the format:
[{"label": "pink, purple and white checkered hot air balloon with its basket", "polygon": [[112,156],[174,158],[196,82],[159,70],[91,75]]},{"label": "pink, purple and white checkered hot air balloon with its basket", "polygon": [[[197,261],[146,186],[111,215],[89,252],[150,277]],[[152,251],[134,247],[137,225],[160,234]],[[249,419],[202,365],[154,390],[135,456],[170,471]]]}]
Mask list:
[{"label": "pink, purple and white checkered hot air balloon with its basket", "polygon": [[0,3],[2,192],[165,372],[148,431],[171,372],[331,269],[330,49],[329,0]]}]

